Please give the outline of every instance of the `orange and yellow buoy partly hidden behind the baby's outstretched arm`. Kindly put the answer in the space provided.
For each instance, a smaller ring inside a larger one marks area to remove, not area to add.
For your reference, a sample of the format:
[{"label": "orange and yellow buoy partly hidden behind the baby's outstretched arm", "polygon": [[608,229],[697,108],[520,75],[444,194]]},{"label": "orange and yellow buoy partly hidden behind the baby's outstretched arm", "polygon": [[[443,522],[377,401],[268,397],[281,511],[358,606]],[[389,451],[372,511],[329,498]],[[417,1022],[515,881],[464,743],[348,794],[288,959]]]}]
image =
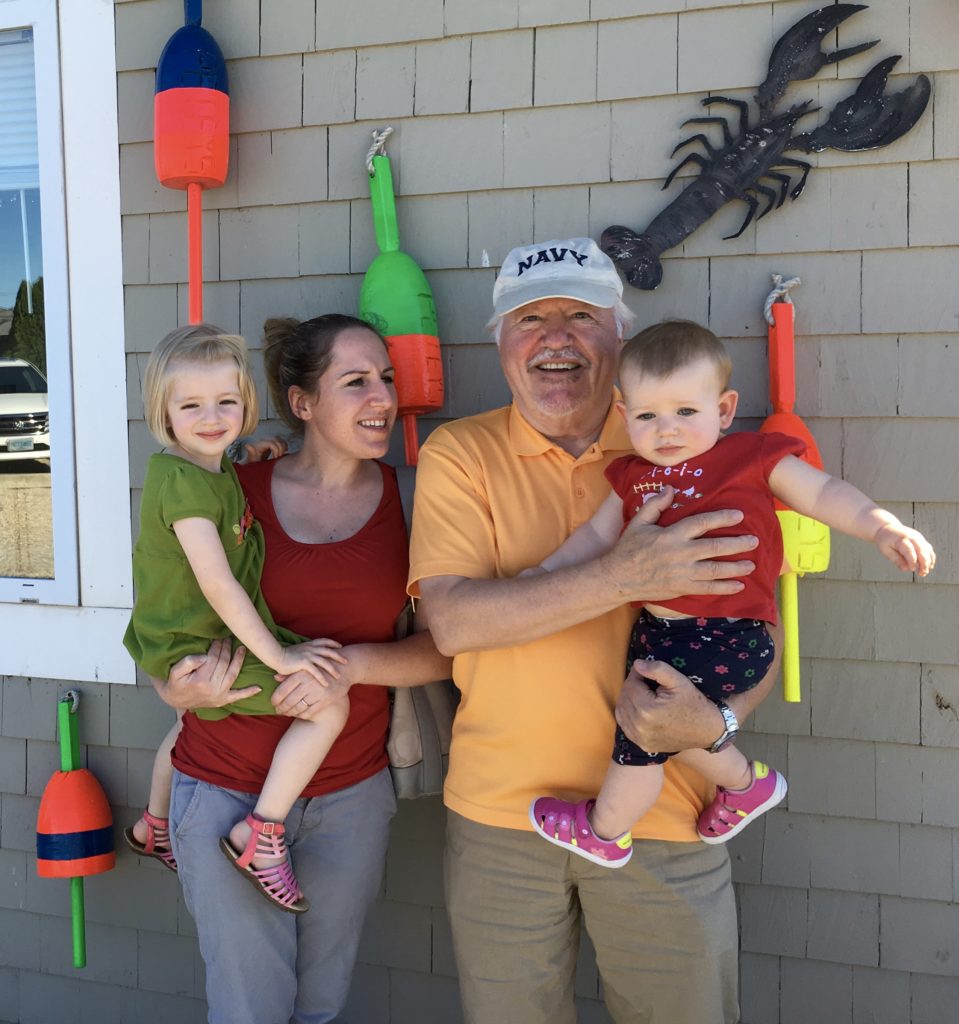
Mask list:
[{"label": "orange and yellow buoy partly hidden behind the baby's outstretched arm", "polygon": [[[798,278],[783,282],[773,274],[773,291],[766,299],[764,313],[769,324],[770,401],[773,412],[759,427],[796,437],[805,443],[802,461],[823,468],[822,456],[809,427],[792,411],[796,398],[793,340],[795,309],[789,290]],[[799,697],[799,597],[796,578],[829,568],[829,527],[818,519],[800,515],[776,501],[776,515],[783,531],[783,568],[779,578],[779,608],[783,616],[783,699],[798,703]]]}]

